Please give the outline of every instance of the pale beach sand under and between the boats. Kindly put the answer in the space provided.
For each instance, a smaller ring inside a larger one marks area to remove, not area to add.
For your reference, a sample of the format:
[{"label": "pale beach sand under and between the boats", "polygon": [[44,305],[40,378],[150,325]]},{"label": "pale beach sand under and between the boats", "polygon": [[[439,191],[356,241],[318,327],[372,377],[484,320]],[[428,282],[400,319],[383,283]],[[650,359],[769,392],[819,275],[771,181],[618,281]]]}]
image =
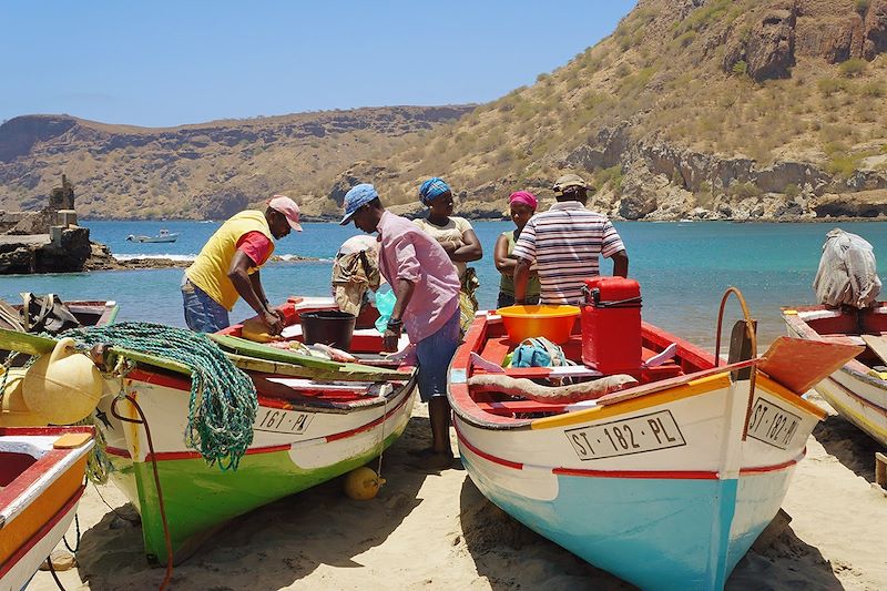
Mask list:
[{"label": "pale beach sand under and between the boats", "polygon": [[[783,502],[791,524],[740,561],[727,589],[887,588],[887,495],[871,485],[879,446],[829,411]],[[408,468],[407,450],[429,442],[417,404],[383,458],[388,482],[376,499],[348,499],[337,479],[253,511],[176,567],[172,589],[633,589],[504,514],[465,470]],[[65,589],[160,584],[164,569],[145,562],[137,516],[116,488],[90,485],[79,516],[79,564],[59,573]],[[49,572],[29,587],[52,589]]]}]

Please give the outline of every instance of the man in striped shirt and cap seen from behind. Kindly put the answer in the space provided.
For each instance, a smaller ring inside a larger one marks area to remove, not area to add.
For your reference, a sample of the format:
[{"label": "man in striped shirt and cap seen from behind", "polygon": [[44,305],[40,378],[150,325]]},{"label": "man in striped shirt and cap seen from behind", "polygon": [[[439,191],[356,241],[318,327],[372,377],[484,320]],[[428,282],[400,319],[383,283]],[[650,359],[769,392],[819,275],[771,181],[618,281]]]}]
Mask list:
[{"label": "man in striped shirt and cap seen from behind", "polygon": [[530,266],[542,284],[540,304],[583,303],[583,279],[600,275],[598,258],[613,259],[613,275],[629,274],[629,255],[606,216],[585,208],[589,185],[578,174],[554,183],[558,203],[527,222],[514,244],[514,303],[527,294]]}]

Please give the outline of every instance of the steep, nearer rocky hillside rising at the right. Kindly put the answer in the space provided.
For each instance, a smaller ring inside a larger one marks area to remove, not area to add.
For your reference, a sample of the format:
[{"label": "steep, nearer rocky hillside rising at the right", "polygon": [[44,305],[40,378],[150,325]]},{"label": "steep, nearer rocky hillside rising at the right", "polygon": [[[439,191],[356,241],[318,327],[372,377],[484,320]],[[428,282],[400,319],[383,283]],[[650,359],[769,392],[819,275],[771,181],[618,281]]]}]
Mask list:
[{"label": "steep, nearer rocky hillside rising at the right", "polygon": [[[430,141],[355,166],[463,212],[570,169],[614,217],[887,214],[887,0],[642,0],[609,38]],[[414,205],[415,206],[415,205]]]}]

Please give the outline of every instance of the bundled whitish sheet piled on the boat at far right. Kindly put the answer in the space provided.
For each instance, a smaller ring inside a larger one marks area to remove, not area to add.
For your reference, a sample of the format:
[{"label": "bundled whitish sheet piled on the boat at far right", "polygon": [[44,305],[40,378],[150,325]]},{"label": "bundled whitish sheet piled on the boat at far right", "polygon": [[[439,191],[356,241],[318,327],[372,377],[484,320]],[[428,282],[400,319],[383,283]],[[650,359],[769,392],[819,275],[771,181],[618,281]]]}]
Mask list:
[{"label": "bundled whitish sheet piled on the boat at far right", "polygon": [[840,228],[826,234],[813,288],[820,304],[855,308],[870,306],[880,292],[871,245]]}]

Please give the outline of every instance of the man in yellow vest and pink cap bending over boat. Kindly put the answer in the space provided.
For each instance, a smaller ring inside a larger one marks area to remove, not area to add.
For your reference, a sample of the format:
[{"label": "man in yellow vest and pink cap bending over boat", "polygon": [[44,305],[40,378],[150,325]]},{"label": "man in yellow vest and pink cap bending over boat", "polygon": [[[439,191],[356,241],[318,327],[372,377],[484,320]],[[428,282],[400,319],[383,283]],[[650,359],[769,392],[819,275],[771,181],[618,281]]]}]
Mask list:
[{"label": "man in yellow vest and pink cap bending over boat", "polygon": [[283,318],[268,305],[258,269],[274,252],[274,240],[290,230],[302,232],[298,205],[284,195],[274,195],[265,213],[247,210],[222,224],[182,278],[187,327],[200,333],[227,327],[228,312],[243,297],[269,333],[278,334]]}]

